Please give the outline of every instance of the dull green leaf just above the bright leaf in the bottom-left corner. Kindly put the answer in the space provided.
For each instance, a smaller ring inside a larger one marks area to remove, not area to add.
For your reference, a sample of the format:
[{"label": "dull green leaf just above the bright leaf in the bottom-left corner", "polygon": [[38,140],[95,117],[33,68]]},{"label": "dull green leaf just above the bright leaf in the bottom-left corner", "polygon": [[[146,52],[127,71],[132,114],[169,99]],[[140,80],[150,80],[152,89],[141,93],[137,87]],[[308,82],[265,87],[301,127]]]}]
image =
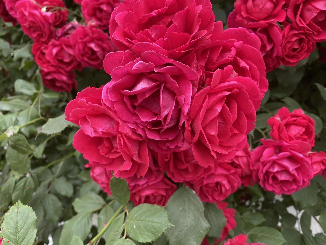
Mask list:
[{"label": "dull green leaf just above the bright leaf in the bottom-left corner", "polygon": [[20,200],[23,204],[28,204],[35,191],[34,180],[31,176],[24,177],[17,182],[14,192],[12,193],[12,202]]}]

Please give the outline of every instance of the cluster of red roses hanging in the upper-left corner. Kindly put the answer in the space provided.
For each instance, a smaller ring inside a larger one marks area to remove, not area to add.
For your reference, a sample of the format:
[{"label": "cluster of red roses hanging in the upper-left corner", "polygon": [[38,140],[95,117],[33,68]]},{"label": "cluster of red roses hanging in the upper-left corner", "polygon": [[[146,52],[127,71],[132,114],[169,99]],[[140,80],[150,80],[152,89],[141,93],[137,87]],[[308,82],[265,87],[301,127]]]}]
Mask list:
[{"label": "cluster of red roses hanging in the upper-left corner", "polygon": [[54,91],[76,89],[75,70],[101,70],[104,57],[115,51],[109,35],[96,26],[67,24],[68,9],[62,0],[1,0],[0,6],[4,21],[20,24],[34,41],[32,54],[44,86]]}]

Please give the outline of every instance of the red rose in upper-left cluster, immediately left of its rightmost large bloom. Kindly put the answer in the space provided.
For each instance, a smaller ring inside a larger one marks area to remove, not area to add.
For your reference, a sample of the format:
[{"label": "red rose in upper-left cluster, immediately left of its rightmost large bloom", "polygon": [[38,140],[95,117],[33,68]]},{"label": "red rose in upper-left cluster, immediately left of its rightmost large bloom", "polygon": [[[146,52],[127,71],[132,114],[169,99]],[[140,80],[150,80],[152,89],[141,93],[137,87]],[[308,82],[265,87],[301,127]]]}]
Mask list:
[{"label": "red rose in upper-left cluster, immediately left of its rightmost large bloom", "polygon": [[67,38],[58,41],[52,39],[48,44],[46,58],[53,66],[66,72],[81,68],[81,63],[75,57],[74,46]]}]

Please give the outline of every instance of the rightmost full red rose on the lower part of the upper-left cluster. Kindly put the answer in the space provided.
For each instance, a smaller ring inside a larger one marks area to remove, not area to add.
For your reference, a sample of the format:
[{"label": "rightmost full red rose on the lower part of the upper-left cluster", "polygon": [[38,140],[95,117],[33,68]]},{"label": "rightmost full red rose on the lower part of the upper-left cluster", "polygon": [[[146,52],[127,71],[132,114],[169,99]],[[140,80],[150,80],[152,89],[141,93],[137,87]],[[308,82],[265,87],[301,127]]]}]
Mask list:
[{"label": "rightmost full red rose on the lower part of the upper-left cluster", "polygon": [[74,47],[76,59],[83,67],[101,70],[104,57],[115,51],[108,34],[94,27],[78,27],[69,40]]}]

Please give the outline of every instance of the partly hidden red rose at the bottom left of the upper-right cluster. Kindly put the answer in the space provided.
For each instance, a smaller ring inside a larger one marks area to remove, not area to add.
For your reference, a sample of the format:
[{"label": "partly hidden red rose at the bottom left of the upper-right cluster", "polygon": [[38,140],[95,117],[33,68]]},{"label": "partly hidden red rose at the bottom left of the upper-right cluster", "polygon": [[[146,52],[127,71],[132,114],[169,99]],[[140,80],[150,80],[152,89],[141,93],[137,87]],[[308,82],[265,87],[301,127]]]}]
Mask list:
[{"label": "partly hidden red rose at the bottom left of the upper-right cluster", "polygon": [[281,29],[277,24],[270,23],[266,28],[252,28],[260,39],[260,53],[266,65],[266,72],[271,72],[280,66],[279,58],[282,55]]}]

